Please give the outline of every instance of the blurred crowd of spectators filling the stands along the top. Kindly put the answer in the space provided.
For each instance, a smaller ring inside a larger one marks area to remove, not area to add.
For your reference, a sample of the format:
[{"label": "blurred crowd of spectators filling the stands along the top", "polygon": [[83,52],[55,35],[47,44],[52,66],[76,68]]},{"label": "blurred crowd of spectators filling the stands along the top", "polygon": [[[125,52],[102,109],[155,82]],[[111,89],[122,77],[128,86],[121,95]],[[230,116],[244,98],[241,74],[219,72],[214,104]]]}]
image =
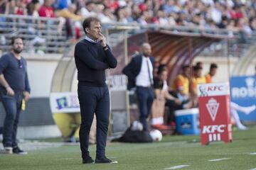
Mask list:
[{"label": "blurred crowd of spectators filling the stands along the top", "polygon": [[256,1],[245,0],[0,0],[0,13],[80,20],[97,16],[102,23],[156,23],[256,30]]}]

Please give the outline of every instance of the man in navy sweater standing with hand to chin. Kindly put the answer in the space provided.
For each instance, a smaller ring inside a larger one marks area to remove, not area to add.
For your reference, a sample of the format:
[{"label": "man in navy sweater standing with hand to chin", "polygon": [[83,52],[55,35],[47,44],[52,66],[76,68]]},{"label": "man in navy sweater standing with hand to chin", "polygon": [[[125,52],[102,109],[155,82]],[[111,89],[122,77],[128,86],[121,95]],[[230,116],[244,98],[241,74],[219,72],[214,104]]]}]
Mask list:
[{"label": "man in navy sweater standing with hand to chin", "polygon": [[82,23],[86,37],[75,45],[75,64],[78,69],[78,98],[80,101],[80,149],[82,163],[94,160],[88,151],[89,133],[94,114],[97,118],[97,151],[95,163],[112,163],[105,156],[107,128],[110,117],[110,94],[105,83],[105,69],[117,67],[97,18]]}]

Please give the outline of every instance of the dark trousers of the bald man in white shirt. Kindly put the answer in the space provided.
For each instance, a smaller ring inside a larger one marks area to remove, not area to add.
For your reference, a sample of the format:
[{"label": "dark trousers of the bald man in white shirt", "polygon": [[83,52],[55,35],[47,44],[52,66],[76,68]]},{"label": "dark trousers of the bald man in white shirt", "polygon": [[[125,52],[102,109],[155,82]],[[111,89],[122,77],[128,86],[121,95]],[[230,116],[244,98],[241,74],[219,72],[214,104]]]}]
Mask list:
[{"label": "dark trousers of the bald man in white shirt", "polygon": [[151,106],[154,101],[154,91],[151,87],[137,86],[136,92],[139,103],[139,121],[143,125],[143,130],[148,130],[146,119],[151,113]]}]

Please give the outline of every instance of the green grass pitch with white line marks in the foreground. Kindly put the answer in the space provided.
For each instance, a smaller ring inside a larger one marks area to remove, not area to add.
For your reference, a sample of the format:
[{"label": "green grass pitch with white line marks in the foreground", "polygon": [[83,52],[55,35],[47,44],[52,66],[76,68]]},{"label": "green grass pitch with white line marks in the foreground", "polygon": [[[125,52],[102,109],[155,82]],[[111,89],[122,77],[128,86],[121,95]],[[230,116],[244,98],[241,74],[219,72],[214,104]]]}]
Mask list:
[{"label": "green grass pitch with white line marks in the foreground", "polygon": [[[95,145],[90,146],[95,157]],[[148,144],[108,143],[107,157],[118,164],[82,164],[79,146],[30,151],[27,155],[0,155],[0,169],[256,169],[256,126],[233,132],[233,142],[201,146],[199,136],[165,136]],[[225,159],[223,159],[225,158]],[[209,162],[210,159],[223,159]]]}]

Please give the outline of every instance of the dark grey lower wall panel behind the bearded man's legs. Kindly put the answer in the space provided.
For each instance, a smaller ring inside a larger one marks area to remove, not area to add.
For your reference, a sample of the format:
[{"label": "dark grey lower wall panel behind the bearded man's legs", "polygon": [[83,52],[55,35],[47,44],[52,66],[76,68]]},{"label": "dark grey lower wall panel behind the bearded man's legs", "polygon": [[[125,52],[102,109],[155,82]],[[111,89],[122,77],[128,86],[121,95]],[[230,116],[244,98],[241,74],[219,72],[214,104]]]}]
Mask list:
[{"label": "dark grey lower wall panel behind the bearded man's legs", "polygon": [[[0,102],[0,126],[4,123],[5,111]],[[26,111],[20,115],[19,126],[55,125],[50,111],[49,98],[31,98],[26,103]]]}]

